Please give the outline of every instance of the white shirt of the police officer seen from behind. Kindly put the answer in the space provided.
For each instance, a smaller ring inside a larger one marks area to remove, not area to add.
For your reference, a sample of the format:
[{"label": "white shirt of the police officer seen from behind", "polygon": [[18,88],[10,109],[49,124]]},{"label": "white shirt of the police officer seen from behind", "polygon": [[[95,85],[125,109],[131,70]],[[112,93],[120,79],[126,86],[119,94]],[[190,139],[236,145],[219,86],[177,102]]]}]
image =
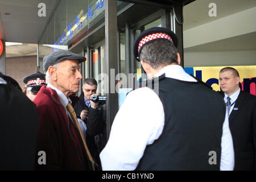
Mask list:
[{"label": "white shirt of the police officer seen from behind", "polygon": [[[179,65],[168,65],[156,76],[163,73],[166,73],[166,77],[196,82],[195,78],[185,73]],[[147,87],[129,93],[115,116],[109,141],[100,154],[102,169],[134,170],[146,146],[160,137],[163,127],[163,104],[157,94]],[[221,170],[233,170],[233,140],[227,114],[223,125],[221,149]]]}]

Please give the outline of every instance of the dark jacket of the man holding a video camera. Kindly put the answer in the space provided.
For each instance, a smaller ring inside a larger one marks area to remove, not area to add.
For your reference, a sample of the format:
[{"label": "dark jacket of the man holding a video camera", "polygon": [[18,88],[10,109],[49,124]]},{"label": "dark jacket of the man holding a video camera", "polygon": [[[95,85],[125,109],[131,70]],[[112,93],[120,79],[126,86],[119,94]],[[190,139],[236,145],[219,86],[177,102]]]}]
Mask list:
[{"label": "dark jacket of the man holding a video camera", "polygon": [[79,101],[74,107],[76,114],[80,115],[82,110],[88,110],[88,119],[85,119],[86,124],[86,143],[90,152],[100,164],[100,152],[106,144],[106,119],[104,105],[98,105],[97,109],[88,108],[84,102],[84,93],[81,93]]}]

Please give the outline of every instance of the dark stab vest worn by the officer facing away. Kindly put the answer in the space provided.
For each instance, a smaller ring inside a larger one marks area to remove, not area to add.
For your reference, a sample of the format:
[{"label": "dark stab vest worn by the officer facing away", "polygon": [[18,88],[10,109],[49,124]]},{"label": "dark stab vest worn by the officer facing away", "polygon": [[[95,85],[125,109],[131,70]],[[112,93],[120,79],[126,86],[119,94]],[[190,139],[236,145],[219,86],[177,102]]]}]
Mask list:
[{"label": "dark stab vest worn by the officer facing away", "polygon": [[220,170],[225,119],[220,95],[199,82],[164,75],[158,83],[164,128],[146,147],[137,170]]}]

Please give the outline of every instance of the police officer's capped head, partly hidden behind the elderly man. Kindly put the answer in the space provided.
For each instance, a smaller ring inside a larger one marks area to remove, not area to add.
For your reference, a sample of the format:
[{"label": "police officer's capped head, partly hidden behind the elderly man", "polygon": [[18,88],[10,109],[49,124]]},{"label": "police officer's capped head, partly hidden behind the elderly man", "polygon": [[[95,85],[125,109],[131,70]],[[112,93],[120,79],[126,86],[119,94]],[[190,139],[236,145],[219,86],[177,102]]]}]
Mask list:
[{"label": "police officer's capped head, partly hidden behind the elderly man", "polygon": [[34,73],[23,78],[24,84],[26,84],[25,94],[31,101],[34,101],[36,94],[40,90],[41,86],[46,84],[46,75],[43,73]]}]

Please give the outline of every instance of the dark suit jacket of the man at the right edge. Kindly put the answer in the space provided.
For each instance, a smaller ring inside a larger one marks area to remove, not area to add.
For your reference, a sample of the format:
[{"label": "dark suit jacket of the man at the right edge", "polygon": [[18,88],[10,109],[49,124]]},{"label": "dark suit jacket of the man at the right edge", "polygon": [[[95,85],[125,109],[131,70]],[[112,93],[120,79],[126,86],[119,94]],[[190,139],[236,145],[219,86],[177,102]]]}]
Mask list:
[{"label": "dark suit jacket of the man at the right edge", "polygon": [[234,170],[256,169],[256,96],[240,91],[229,115],[229,128],[234,143]]}]

